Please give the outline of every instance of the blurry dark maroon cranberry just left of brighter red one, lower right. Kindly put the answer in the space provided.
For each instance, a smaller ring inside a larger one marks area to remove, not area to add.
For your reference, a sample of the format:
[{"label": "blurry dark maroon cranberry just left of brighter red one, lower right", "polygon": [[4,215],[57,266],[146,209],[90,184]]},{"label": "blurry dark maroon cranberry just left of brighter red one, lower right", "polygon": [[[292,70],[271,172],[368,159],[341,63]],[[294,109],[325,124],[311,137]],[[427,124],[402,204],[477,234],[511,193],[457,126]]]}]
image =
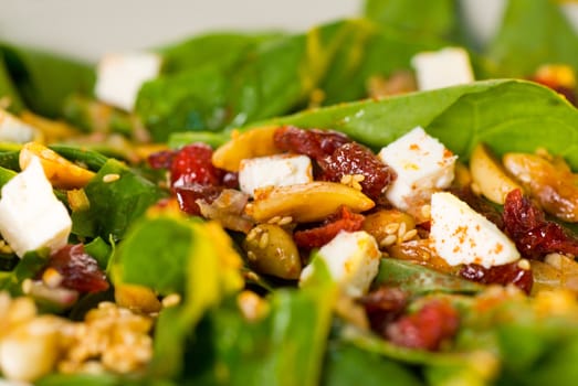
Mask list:
[{"label": "blurry dark maroon cranberry just left of brighter red one, lower right", "polygon": [[371,330],[386,335],[387,325],[398,319],[408,304],[408,292],[396,287],[382,286],[359,299]]}]

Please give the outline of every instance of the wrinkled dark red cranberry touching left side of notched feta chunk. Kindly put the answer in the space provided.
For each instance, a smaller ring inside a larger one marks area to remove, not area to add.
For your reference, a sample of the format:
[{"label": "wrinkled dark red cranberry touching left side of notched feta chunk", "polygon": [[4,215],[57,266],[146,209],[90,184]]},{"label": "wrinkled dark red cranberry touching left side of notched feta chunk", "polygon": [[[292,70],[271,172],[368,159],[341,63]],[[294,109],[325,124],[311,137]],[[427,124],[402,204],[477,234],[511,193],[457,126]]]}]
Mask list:
[{"label": "wrinkled dark red cranberry touching left side of notched feta chunk", "polygon": [[361,191],[369,197],[380,201],[382,192],[397,178],[393,169],[381,162],[374,152],[357,142],[345,143],[332,156],[319,161],[323,180],[339,182],[344,175],[360,174]]}]

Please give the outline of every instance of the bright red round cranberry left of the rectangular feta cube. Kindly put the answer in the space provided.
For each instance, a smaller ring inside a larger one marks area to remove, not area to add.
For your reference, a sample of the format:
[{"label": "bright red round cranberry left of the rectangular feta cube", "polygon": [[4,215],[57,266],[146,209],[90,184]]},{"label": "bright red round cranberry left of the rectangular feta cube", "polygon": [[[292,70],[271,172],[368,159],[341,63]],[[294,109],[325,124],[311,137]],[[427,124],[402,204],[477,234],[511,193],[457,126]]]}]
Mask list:
[{"label": "bright red round cranberry left of the rectangular feta cube", "polygon": [[187,186],[192,183],[219,185],[223,171],[212,164],[212,149],[204,143],[192,143],[182,147],[170,165],[170,184],[172,187]]}]

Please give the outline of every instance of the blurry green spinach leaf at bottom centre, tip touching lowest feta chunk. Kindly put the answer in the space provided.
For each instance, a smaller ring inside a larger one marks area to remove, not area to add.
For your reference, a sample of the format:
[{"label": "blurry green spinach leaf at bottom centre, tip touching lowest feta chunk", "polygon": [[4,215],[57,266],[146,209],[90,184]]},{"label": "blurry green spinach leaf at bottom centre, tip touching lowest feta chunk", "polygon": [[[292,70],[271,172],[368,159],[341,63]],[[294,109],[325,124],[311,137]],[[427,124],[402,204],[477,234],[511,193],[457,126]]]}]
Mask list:
[{"label": "blurry green spinach leaf at bottom centre, tip touching lowest feta chunk", "polygon": [[317,260],[315,278],[305,288],[280,289],[269,297],[270,312],[263,320],[248,321],[237,307],[213,311],[208,329],[213,349],[193,350],[191,361],[212,357],[193,379],[214,385],[318,385],[336,285]]}]

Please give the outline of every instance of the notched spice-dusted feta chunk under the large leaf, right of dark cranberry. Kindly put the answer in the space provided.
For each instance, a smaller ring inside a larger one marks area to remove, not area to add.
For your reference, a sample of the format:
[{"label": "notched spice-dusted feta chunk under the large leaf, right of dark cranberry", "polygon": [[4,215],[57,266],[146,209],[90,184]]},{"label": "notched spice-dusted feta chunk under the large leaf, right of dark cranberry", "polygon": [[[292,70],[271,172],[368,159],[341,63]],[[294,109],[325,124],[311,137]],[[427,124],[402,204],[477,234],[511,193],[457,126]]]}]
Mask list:
[{"label": "notched spice-dusted feta chunk under the large leaf, right of dark cranberry", "polygon": [[398,174],[386,196],[402,211],[428,202],[431,193],[450,186],[458,159],[421,127],[381,149],[379,158]]}]

